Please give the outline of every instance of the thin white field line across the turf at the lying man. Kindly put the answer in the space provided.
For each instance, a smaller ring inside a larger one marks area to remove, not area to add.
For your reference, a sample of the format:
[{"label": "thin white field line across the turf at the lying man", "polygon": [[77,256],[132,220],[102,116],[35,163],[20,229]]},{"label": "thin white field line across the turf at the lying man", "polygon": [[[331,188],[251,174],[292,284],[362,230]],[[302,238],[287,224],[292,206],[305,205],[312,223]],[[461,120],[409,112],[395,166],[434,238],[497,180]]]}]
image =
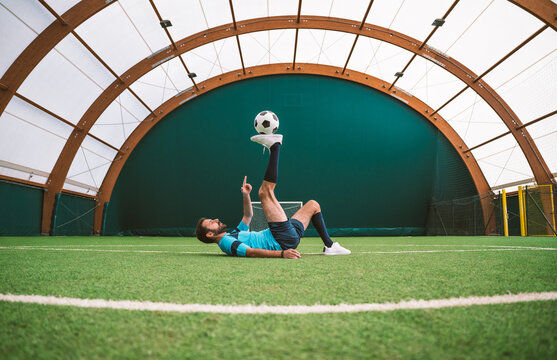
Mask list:
[{"label": "thin white field line across the turf at the lying man", "polygon": [[[220,254],[218,251],[165,251],[165,250],[116,250],[116,249],[71,249],[71,248],[44,248],[0,246],[0,250],[42,250],[42,251],[88,251],[112,253],[148,253],[148,254]],[[359,251],[352,254],[419,254],[419,253],[462,253],[462,252],[492,252],[492,251],[555,251],[557,248],[538,247],[509,247],[496,249],[449,249],[449,250],[393,250],[393,251]],[[319,255],[321,252],[303,252],[302,255]]]}]

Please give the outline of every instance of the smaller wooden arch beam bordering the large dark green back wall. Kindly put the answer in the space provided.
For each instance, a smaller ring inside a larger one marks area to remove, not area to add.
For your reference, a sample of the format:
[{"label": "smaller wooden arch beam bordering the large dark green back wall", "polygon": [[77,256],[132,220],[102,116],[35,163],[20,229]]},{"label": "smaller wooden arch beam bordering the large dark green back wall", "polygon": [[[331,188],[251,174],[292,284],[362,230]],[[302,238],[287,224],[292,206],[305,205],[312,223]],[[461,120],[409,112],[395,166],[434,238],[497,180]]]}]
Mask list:
[{"label": "smaller wooden arch beam bordering the large dark green back wall", "polygon": [[[404,92],[397,92],[397,91],[389,91],[389,83],[380,80],[376,77],[373,77],[368,74],[364,74],[361,72],[356,71],[349,71],[347,74],[343,75],[338,70],[338,67],[333,67],[329,65],[319,65],[319,64],[301,64],[298,63],[295,69],[290,68],[290,63],[288,64],[271,64],[271,65],[260,65],[251,68],[246,68],[248,70],[247,76],[238,76],[241,73],[241,69],[228,72],[226,74],[222,74],[219,76],[215,76],[211,79],[208,79],[199,84],[200,88],[203,88],[203,94],[217,89],[221,86],[234,83],[237,81],[242,81],[246,79],[261,77],[261,76],[269,76],[269,75],[279,75],[279,74],[311,74],[311,75],[320,75],[320,76],[327,76],[337,79],[348,80],[351,82],[355,82],[358,84],[362,84],[368,86],[370,88],[376,89],[381,91],[382,93],[391,95],[392,97],[396,98],[398,101],[402,102],[404,105],[411,107],[415,111],[417,111],[420,115],[424,117],[429,123],[435,126],[444,136],[449,140],[452,144],[454,149],[460,155],[460,158],[466,165],[472,179],[474,181],[474,185],[478,191],[478,194],[485,195],[491,193],[490,186],[485,179],[478,163],[474,156],[469,153],[468,147],[462,140],[462,138],[457,134],[457,132],[449,125],[440,115],[436,115],[431,117],[426,113],[424,110],[429,110],[430,112],[433,109],[427,106],[424,102],[419,100],[418,98],[406,94]],[[122,170],[124,164],[130,157],[130,154],[135,149],[137,144],[143,139],[143,137],[155,126],[159,121],[170,114],[173,110],[180,107],[182,104],[191,100],[192,98],[197,97],[197,93],[195,91],[189,91],[177,96],[172,97],[171,99],[167,100],[161,106],[159,106],[155,113],[161,114],[156,118],[152,116],[148,116],[141,124],[139,124],[132,134],[126,139],[124,144],[122,145],[122,149],[125,149],[125,152],[121,154],[117,154],[116,158],[110,165],[108,172],[103,180],[103,183],[99,189],[97,200],[99,201],[99,205],[95,209],[95,234],[101,233],[102,227],[102,219],[103,219],[103,211],[104,211],[104,204],[109,202],[110,197],[112,196],[112,191],[120,175],[120,171]],[[489,200],[489,198],[487,198]],[[484,207],[484,220],[486,223],[489,222],[488,214],[489,211],[489,201],[483,201],[482,205]]]}]

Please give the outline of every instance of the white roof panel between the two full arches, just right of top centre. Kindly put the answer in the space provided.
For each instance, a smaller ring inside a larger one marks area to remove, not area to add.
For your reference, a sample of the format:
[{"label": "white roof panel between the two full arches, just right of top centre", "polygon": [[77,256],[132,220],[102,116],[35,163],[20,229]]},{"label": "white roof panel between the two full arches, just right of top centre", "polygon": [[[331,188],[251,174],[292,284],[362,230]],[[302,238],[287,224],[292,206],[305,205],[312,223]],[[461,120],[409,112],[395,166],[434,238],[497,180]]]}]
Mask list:
[{"label": "white roof panel between the two full arches, just right of top centre", "polygon": [[344,67],[356,35],[338,31],[307,30],[298,32],[296,62]]}]

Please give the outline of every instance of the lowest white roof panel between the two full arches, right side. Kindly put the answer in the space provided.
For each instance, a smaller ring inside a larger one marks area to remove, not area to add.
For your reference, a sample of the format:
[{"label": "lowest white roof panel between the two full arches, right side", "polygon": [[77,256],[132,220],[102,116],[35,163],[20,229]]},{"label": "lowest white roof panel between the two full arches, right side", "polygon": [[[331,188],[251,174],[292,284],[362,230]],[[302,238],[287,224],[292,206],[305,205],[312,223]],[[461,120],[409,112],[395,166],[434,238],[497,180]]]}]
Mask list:
[{"label": "lowest white roof panel between the two full arches, right side", "polygon": [[526,157],[511,135],[472,150],[472,153],[492,187],[534,176]]}]

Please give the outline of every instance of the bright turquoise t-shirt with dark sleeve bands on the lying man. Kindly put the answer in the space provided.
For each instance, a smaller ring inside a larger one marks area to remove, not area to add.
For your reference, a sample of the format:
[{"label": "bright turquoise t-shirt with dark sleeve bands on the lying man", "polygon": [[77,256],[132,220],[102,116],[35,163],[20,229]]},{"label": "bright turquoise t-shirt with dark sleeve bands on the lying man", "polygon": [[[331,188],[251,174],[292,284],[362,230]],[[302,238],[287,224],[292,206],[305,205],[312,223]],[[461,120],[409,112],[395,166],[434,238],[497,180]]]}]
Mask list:
[{"label": "bright turquoise t-shirt with dark sleeve bands on the lying man", "polygon": [[248,248],[282,250],[271,230],[249,231],[249,226],[242,221],[233,231],[220,239],[219,248],[231,256],[246,256]]}]

